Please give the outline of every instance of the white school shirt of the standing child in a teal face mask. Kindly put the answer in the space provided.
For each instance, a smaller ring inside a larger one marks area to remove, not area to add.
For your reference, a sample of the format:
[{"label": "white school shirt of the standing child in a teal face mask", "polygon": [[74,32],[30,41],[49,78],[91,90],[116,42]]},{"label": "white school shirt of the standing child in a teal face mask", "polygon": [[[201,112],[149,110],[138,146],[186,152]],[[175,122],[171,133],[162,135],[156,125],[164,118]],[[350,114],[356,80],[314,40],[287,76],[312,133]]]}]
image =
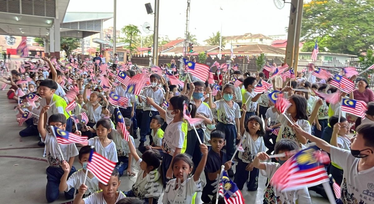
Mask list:
[{"label": "white school shirt of the standing child in a teal face mask", "polygon": [[239,105],[234,102],[233,107],[230,108],[223,99],[215,101],[214,104],[217,106],[218,121],[235,125],[235,119],[240,118]]}]

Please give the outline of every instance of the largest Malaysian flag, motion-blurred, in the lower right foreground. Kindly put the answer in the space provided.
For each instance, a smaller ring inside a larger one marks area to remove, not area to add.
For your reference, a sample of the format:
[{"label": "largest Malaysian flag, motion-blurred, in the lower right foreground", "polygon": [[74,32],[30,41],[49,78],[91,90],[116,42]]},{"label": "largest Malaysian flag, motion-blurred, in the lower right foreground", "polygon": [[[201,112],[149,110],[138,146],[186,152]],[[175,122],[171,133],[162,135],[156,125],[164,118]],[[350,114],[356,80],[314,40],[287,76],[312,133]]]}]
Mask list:
[{"label": "largest Malaysian flag, motion-blurred, in the lower right foreground", "polygon": [[316,146],[299,151],[275,172],[270,184],[277,191],[293,191],[328,182],[325,166],[313,154]]}]

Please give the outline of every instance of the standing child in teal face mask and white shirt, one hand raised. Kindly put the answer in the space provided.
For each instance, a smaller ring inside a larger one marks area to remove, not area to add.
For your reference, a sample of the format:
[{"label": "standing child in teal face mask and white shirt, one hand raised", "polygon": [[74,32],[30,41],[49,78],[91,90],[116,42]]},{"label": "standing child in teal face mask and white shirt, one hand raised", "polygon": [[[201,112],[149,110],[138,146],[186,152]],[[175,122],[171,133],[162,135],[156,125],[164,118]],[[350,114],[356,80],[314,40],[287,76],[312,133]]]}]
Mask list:
[{"label": "standing child in teal face mask and white shirt, one hand raised", "polygon": [[[226,135],[226,154],[228,158],[231,158],[235,151],[235,141],[240,139],[239,129],[239,118],[240,108],[237,103],[232,101],[234,95],[234,85],[225,84],[222,89],[223,99],[212,101],[212,90],[208,89],[209,94],[209,107],[217,109],[218,112],[218,124],[217,130],[220,130]],[[234,171],[229,169],[227,174],[232,177]]]}]

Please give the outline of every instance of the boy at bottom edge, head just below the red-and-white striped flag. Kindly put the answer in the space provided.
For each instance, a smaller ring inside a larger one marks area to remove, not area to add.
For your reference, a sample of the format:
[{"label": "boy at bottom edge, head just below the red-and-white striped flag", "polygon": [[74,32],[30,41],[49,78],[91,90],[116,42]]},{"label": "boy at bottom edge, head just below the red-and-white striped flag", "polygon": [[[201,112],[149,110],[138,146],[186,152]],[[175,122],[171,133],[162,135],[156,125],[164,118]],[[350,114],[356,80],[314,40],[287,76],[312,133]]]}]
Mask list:
[{"label": "boy at bottom edge, head just below the red-and-white striped flag", "polygon": [[121,181],[119,179],[119,173],[116,169],[114,169],[108,181],[108,185],[104,185],[104,183],[99,182],[99,189],[101,189],[101,191],[95,192],[83,199],[82,197],[87,191],[88,187],[85,184],[82,184],[79,187],[78,194],[76,195],[73,204],[116,203],[122,198],[126,197],[123,192],[117,191],[120,184]]}]

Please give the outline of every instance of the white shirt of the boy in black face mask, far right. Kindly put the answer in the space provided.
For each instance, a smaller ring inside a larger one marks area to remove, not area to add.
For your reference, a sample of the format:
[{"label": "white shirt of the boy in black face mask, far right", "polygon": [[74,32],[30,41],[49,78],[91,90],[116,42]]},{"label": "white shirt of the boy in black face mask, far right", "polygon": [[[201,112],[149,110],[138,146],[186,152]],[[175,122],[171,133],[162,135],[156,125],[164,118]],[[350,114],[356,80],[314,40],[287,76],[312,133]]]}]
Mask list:
[{"label": "white shirt of the boy in black face mask, far right", "polygon": [[349,150],[330,148],[331,161],[343,168],[341,200],[343,203],[374,204],[374,167],[358,172],[359,158]]}]

